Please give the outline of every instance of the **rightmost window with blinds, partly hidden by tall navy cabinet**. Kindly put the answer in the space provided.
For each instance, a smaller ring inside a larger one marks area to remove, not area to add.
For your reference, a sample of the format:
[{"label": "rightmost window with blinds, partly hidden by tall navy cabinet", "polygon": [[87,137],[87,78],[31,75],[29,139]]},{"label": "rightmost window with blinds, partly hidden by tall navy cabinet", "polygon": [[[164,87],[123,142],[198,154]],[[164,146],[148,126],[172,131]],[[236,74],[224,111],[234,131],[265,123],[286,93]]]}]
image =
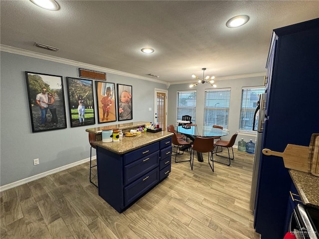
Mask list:
[{"label": "rightmost window with blinds, partly hidden by tall navy cabinet", "polygon": [[254,114],[260,94],[265,93],[265,87],[244,87],[241,94],[239,130],[253,130]]}]

